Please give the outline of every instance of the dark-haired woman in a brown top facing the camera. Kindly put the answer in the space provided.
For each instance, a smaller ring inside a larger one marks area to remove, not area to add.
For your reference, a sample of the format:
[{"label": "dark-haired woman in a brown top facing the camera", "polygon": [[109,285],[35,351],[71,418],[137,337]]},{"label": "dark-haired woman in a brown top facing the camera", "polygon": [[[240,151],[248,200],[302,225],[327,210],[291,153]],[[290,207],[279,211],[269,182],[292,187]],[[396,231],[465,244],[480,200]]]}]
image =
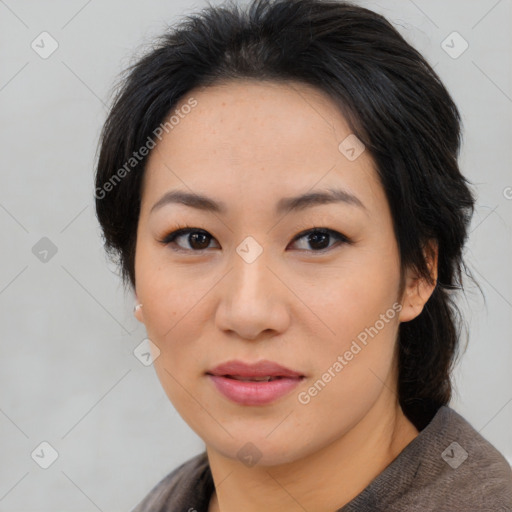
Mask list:
[{"label": "dark-haired woman in a brown top facing the camera", "polygon": [[449,406],[474,207],[456,106],[380,15],[209,7],[130,69],[96,208],[204,453],[143,511],[512,510]]}]

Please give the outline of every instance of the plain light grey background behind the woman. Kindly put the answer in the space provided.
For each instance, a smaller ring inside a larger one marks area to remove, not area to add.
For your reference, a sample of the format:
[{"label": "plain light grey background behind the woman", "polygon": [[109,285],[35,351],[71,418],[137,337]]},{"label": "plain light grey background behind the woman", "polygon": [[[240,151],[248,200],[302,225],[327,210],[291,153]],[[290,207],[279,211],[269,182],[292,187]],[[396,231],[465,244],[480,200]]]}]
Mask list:
[{"label": "plain light grey background behind the woman", "polygon": [[[451,405],[512,462],[512,2],[360,3],[425,54],[462,112],[478,193],[466,258],[487,306],[474,288],[461,303],[470,342]],[[145,332],[103,253],[93,168],[116,75],[204,5],[0,0],[1,511],[128,511],[203,449],[134,357]],[[43,31],[59,44],[47,59],[31,48]],[[458,58],[441,47],[453,31],[469,44]],[[32,251],[43,237],[57,248],[46,262]],[[48,469],[43,441],[59,454]]]}]

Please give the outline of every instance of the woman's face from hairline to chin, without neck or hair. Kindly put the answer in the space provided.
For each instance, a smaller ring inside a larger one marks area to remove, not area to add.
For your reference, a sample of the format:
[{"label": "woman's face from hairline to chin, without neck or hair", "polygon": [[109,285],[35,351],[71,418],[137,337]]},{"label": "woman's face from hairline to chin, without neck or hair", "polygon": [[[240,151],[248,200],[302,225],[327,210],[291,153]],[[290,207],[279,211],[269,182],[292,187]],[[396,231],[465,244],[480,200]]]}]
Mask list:
[{"label": "woman's face from hairline to chin, without neck or hair", "polygon": [[[417,312],[400,305],[390,210],[368,152],[352,138],[340,149],[351,130],[320,91],[233,82],[190,96],[197,106],[146,166],[137,317],[166,394],[207,446],[235,458],[251,442],[261,463],[290,462],[343,436],[393,375],[398,325]],[[330,189],[337,200],[291,201]],[[233,360],[301,377],[209,375]]]}]

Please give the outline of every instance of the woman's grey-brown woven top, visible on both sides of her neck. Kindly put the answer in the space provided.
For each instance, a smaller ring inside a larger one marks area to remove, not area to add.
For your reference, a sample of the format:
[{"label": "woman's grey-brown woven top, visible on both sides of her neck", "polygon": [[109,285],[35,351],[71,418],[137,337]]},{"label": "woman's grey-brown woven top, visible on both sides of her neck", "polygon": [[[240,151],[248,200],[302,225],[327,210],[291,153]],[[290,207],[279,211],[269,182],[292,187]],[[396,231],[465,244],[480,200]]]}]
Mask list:
[{"label": "woman's grey-brown woven top, visible on both sides of her neck", "polygon": [[[203,452],[163,478],[132,512],[207,512],[213,490]],[[360,494],[336,512],[356,511],[512,512],[512,470],[462,416],[443,406]]]}]

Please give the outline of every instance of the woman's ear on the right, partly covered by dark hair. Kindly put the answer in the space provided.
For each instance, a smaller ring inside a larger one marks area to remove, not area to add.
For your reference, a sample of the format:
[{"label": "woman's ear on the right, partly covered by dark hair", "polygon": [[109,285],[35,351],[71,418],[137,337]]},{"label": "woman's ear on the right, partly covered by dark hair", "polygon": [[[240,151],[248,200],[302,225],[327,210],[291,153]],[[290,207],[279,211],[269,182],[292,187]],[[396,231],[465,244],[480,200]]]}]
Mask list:
[{"label": "woman's ear on the right, partly covered by dark hair", "polygon": [[405,277],[405,288],[402,294],[402,309],[400,311],[399,320],[401,322],[409,322],[416,318],[422,311],[423,307],[432,295],[437,284],[437,261],[438,261],[438,244],[432,240],[424,249],[427,266],[432,277],[432,282],[419,277],[413,269],[408,269]]}]

